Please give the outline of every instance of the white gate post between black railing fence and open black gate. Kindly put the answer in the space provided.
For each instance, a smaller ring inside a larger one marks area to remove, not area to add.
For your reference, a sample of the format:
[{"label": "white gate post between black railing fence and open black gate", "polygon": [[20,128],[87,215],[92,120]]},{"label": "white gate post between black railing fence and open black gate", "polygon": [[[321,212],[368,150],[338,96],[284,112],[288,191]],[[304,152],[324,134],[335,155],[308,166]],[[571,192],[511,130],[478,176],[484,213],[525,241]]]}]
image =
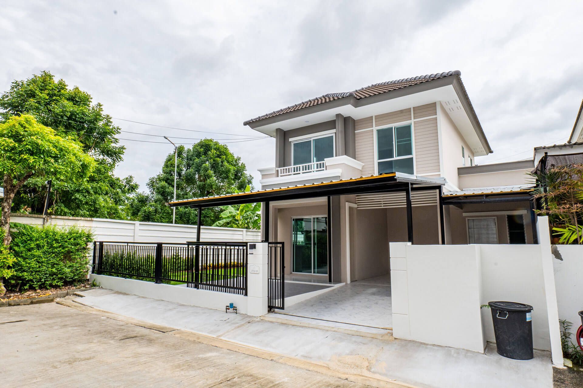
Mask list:
[{"label": "white gate post between black railing fence and open black gate", "polygon": [[248,243],[247,252],[247,315],[265,315],[268,310],[268,243]]}]

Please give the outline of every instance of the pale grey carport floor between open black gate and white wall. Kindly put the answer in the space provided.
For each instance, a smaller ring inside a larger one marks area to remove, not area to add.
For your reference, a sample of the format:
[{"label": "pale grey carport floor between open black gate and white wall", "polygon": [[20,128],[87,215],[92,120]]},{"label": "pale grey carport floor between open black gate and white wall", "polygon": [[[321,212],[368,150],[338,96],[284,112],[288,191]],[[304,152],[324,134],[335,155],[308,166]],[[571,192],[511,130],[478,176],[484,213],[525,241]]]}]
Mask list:
[{"label": "pale grey carport floor between open black gate and white wall", "polygon": [[391,329],[390,277],[383,275],[345,284],[276,312],[351,325]]}]

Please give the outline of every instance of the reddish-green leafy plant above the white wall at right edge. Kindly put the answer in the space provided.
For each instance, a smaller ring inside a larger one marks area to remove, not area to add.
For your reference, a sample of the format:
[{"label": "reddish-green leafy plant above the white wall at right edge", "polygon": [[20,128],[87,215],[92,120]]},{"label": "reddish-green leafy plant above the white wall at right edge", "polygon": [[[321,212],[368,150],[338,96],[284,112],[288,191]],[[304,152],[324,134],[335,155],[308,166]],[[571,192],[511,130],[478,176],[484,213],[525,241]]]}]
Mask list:
[{"label": "reddish-green leafy plant above the white wall at right edge", "polygon": [[583,163],[552,165],[531,176],[538,183],[533,197],[543,207],[538,213],[549,215],[559,242],[583,244]]}]

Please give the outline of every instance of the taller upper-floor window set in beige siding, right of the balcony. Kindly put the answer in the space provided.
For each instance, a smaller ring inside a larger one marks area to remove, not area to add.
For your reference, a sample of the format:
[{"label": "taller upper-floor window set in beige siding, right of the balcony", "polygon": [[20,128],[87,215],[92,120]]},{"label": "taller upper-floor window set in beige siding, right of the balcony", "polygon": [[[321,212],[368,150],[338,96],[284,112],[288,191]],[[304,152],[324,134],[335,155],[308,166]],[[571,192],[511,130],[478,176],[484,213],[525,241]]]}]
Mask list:
[{"label": "taller upper-floor window set in beige siding, right of the balcony", "polygon": [[377,129],[378,173],[413,173],[411,124]]}]

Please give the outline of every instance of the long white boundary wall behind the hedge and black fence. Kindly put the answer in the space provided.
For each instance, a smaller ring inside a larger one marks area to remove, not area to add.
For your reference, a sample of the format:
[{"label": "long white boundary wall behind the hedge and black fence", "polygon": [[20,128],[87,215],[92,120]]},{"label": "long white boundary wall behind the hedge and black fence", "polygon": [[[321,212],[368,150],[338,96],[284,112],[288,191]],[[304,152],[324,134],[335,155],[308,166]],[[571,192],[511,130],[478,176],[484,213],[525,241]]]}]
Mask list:
[{"label": "long white boundary wall behind the hedge and black fence", "polygon": [[[30,214],[10,214],[10,222],[27,225],[43,225],[43,216]],[[80,218],[51,216],[47,225],[79,226],[92,229],[95,240],[129,241],[132,243],[185,243],[196,240],[195,225],[175,225],[171,223],[137,222],[104,218]],[[232,227],[201,227],[202,241],[261,241],[259,230],[236,229]]]}]

